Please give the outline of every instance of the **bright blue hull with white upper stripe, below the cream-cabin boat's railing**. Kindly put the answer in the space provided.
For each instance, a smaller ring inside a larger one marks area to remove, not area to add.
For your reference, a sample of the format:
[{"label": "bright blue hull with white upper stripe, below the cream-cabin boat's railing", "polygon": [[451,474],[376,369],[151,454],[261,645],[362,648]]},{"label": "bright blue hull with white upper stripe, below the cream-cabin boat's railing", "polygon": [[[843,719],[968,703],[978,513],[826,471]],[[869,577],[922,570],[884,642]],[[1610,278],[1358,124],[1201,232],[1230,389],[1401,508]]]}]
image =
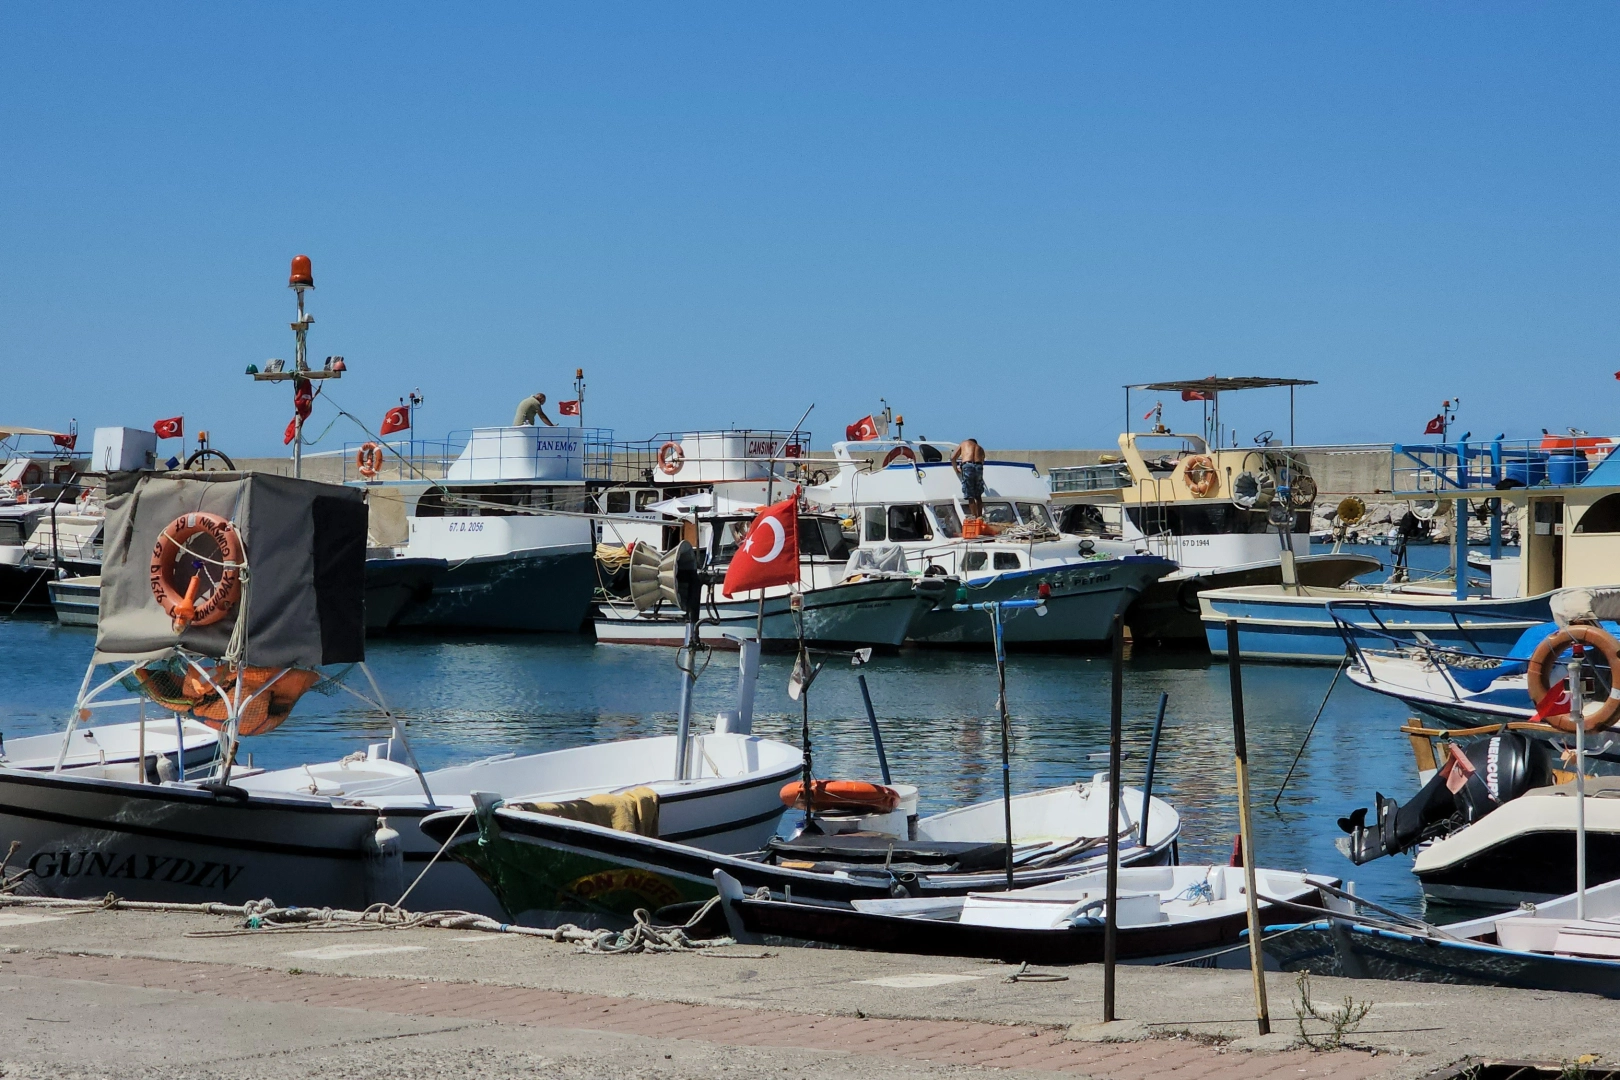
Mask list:
[{"label": "bright blue hull with white upper stripe, below the cream-cabin boat's railing", "polygon": [[1503,654],[1524,630],[1552,619],[1549,596],[1458,601],[1356,589],[1307,588],[1296,594],[1281,586],[1257,586],[1200,593],[1199,609],[1215,656],[1226,656],[1226,620],[1234,620],[1246,661],[1338,664],[1346,644],[1335,614],[1372,631],[1421,631],[1443,648]]}]

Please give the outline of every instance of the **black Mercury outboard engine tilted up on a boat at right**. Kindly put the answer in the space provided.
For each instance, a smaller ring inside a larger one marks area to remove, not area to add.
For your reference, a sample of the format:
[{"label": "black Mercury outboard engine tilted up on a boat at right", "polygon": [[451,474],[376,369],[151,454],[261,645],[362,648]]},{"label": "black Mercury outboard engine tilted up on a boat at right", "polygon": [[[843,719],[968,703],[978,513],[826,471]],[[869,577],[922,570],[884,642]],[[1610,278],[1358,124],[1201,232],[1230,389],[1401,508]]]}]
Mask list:
[{"label": "black Mercury outboard engine tilted up on a boat at right", "polygon": [[1552,750],[1545,742],[1520,732],[1482,738],[1464,756],[1474,772],[1455,795],[1447,787],[1452,771],[1442,763],[1434,779],[1405,806],[1377,793],[1374,824],[1367,824],[1366,808],[1340,818],[1338,827],[1349,836],[1340,837],[1338,850],[1359,866],[1380,855],[1395,855],[1422,840],[1455,832],[1510,798],[1552,784]]}]

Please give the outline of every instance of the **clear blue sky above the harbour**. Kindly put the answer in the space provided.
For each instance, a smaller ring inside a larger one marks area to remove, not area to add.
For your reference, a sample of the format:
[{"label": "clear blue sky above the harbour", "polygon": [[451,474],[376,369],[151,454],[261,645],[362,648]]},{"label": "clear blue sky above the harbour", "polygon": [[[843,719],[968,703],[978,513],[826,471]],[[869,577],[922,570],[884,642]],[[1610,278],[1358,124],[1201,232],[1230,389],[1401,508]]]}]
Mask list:
[{"label": "clear blue sky above the harbour", "polygon": [[421,387],[429,437],[575,366],[624,437],[813,402],[825,444],[883,397],[1108,445],[1121,384],[1212,372],[1319,379],[1301,440],[1452,395],[1476,436],[1614,432],[1617,37],[1580,3],[6,5],[0,423],[279,450],[290,390],[241,372],[290,356],[308,253],[334,397]]}]

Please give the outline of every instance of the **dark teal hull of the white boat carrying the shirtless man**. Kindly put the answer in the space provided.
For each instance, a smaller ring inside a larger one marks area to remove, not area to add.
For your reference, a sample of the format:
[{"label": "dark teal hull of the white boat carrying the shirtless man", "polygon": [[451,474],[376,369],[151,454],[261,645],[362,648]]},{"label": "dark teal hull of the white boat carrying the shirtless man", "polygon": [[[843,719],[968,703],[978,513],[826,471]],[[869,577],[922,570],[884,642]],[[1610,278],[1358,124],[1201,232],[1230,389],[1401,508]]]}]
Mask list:
[{"label": "dark teal hull of the white boat carrying the shirtless man", "polygon": [[[1037,599],[1042,585],[1051,588],[1047,614],[1037,609],[1011,609],[1001,614],[1003,640],[1013,648],[1085,648],[1102,646],[1113,633],[1113,617],[1136,601],[1142,591],[1173,568],[1158,557],[1064,563],[1047,568],[1016,570],[991,578],[969,581],[970,604]],[[930,646],[983,646],[993,640],[990,617],[982,610],[957,612],[949,601],[917,617],[910,638]]]}]

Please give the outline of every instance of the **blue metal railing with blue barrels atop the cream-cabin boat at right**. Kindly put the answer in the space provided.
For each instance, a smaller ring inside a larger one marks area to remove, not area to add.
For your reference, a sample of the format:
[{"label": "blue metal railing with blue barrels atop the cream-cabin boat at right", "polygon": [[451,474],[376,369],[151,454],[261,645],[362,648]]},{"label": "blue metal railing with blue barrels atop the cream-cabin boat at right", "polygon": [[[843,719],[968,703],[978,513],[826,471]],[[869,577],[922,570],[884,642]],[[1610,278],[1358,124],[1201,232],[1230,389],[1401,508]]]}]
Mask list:
[{"label": "blue metal railing with blue barrels atop the cream-cabin boat at right", "polygon": [[1573,487],[1620,445],[1596,436],[1390,447],[1390,494],[1406,499],[1500,487]]}]

